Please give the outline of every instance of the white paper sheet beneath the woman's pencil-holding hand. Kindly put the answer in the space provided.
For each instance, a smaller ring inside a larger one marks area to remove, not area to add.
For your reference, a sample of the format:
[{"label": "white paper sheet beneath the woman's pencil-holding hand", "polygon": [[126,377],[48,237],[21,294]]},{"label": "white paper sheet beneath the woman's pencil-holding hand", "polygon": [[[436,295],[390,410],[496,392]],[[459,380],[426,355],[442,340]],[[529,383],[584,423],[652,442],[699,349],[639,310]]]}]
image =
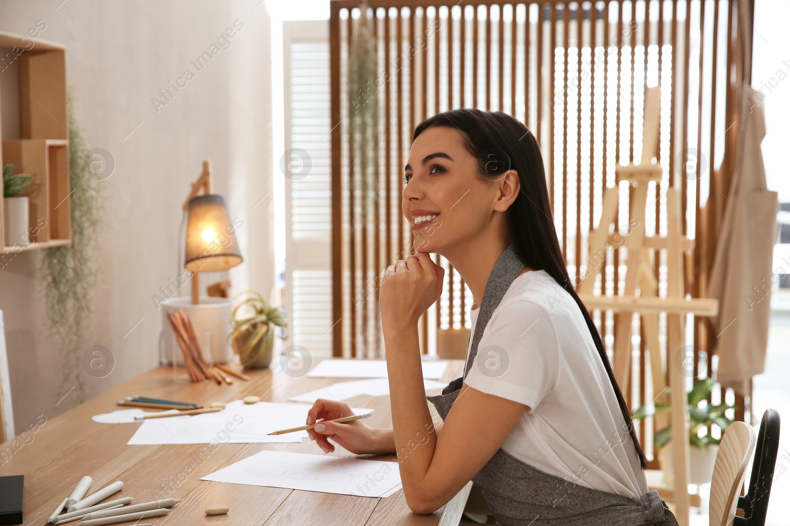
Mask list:
[{"label": "white paper sheet beneath the woman's pencil-holding hand", "polygon": [[[307,431],[284,435],[267,435],[271,431],[303,426],[310,404],[236,400],[222,411],[200,415],[169,416],[143,420],[129,442],[133,446],[158,444],[250,444],[265,442],[301,442]],[[355,414],[373,409],[352,408]]]}]

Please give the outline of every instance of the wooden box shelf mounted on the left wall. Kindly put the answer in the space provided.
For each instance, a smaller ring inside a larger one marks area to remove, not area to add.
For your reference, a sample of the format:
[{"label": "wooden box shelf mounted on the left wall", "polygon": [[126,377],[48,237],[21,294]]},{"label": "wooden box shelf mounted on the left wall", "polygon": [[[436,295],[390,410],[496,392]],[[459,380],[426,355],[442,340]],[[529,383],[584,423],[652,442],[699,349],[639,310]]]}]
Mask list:
[{"label": "wooden box shelf mounted on the left wall", "polygon": [[0,192],[0,253],[71,243],[66,49],[36,34],[0,32],[0,161],[36,173],[28,189],[32,243],[5,239]]}]

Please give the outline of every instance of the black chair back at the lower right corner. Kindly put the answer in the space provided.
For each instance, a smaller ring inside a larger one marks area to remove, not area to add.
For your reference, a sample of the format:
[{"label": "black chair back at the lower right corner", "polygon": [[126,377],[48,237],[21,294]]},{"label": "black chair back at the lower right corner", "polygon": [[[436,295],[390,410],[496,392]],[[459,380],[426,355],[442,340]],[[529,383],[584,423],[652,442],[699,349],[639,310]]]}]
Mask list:
[{"label": "black chair back at the lower right corner", "polygon": [[779,451],[779,413],[768,409],[762,415],[754,464],[751,466],[749,491],[738,498],[738,509],[743,517],[735,517],[733,526],[764,526],[768,512],[768,498],[773,483],[773,468],[777,464]]}]

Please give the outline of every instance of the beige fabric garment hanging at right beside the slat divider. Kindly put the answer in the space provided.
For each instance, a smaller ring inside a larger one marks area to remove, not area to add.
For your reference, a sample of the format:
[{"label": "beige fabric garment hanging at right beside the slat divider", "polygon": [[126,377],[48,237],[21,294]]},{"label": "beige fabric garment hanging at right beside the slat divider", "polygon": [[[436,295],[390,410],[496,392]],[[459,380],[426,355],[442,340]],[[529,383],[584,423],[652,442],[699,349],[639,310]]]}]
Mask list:
[{"label": "beige fabric garment hanging at right beside the slat divider", "polygon": [[744,85],[742,100],[735,172],[723,201],[708,297],[720,302],[718,319],[711,320],[717,335],[717,380],[746,395],[751,377],[766,364],[779,201],[777,192],[766,187],[762,163],[763,95]]}]

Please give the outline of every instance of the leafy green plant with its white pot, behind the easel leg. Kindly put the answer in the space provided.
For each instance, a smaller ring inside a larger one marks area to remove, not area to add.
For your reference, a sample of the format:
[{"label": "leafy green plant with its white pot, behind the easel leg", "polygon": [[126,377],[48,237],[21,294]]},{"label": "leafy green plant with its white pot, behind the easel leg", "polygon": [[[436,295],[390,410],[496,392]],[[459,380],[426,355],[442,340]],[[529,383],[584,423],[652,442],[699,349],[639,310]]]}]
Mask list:
[{"label": "leafy green plant with its white pot, behind the easel leg", "polygon": [[[717,383],[713,379],[698,379],[694,381],[694,386],[692,386],[688,394],[689,444],[692,446],[689,451],[689,482],[692,484],[709,483],[713,476],[713,464],[716,462],[720,440],[710,436],[707,432],[707,427],[715,423],[721,428],[723,433],[733,422],[724,413],[728,409],[734,408],[734,405],[709,405],[707,403],[707,399],[716,385]],[[667,389],[667,392],[669,392],[669,389]],[[657,413],[671,410],[672,408],[669,405],[650,403],[637,408],[631,417],[634,420],[640,420],[646,416],[653,416]],[[699,436],[701,430],[705,430],[705,435]],[[655,444],[656,449],[660,450],[671,439],[672,428],[670,426],[663,427],[653,435],[653,444]]]}]

